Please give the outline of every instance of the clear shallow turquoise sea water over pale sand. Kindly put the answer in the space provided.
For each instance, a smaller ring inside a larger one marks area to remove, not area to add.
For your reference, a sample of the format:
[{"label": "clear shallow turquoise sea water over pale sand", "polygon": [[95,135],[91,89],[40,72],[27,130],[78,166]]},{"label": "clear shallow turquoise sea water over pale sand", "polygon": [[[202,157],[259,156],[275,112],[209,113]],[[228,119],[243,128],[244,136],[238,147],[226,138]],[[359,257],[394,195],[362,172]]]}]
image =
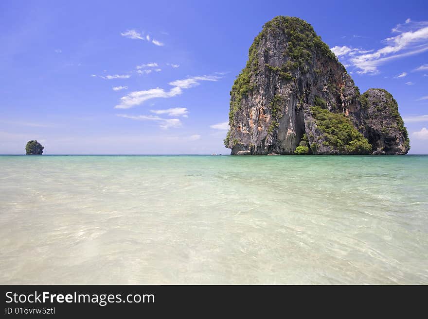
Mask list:
[{"label": "clear shallow turquoise sea water over pale sand", "polygon": [[428,156],[0,156],[0,284],[428,284]]}]

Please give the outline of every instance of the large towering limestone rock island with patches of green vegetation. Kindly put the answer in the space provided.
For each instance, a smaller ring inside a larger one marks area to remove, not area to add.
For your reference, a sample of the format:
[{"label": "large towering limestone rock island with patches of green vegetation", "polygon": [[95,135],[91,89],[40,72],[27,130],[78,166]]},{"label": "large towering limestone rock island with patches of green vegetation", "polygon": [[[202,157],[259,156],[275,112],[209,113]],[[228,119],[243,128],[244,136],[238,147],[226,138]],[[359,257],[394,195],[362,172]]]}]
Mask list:
[{"label": "large towering limestone rock island with patches of green vegetation", "polygon": [[[275,17],[231,91],[232,154],[405,154],[407,130],[385,90],[362,96],[312,26]],[[379,150],[378,150],[379,148]]]}]

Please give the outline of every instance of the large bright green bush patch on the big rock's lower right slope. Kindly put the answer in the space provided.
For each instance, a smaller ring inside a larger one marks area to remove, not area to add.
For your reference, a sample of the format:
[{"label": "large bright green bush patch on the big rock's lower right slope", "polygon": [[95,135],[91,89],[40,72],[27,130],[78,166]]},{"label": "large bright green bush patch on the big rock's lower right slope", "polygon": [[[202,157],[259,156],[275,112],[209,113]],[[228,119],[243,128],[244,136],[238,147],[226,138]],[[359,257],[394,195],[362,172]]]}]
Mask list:
[{"label": "large bright green bush patch on the big rock's lower right slope", "polygon": [[312,106],[310,110],[318,129],[326,137],[324,146],[331,146],[342,154],[370,153],[372,146],[352,125],[349,118],[343,114],[331,113],[319,106]]}]

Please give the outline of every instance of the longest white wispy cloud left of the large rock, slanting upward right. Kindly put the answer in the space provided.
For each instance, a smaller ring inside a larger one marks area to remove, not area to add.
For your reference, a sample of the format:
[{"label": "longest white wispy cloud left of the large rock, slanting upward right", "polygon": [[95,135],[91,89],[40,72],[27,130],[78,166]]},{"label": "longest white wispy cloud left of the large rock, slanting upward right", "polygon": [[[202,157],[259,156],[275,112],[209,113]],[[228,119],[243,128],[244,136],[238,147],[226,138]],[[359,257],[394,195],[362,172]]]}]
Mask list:
[{"label": "longest white wispy cloud left of the large rock, slanting upward right", "polygon": [[172,85],[173,88],[171,88],[169,91],[157,87],[149,90],[130,92],[128,95],[121,98],[120,104],[116,105],[115,108],[128,109],[133,106],[140,105],[147,100],[156,98],[172,98],[182,94],[183,89],[198,85],[200,81],[218,81],[219,79],[219,76],[213,75],[196,76],[170,82],[169,85]]}]

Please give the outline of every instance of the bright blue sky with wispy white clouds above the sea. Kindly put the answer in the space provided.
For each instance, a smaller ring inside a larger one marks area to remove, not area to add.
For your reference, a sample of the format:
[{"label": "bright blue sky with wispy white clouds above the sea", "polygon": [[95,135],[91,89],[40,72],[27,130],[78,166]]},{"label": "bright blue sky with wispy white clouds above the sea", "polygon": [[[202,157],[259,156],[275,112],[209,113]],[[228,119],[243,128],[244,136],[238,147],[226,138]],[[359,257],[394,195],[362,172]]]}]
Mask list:
[{"label": "bright blue sky with wispy white clouds above the sea", "polygon": [[[387,4],[388,3],[388,4]],[[387,89],[428,153],[427,1],[0,1],[0,153],[223,153],[265,22],[300,17],[361,92]]]}]

